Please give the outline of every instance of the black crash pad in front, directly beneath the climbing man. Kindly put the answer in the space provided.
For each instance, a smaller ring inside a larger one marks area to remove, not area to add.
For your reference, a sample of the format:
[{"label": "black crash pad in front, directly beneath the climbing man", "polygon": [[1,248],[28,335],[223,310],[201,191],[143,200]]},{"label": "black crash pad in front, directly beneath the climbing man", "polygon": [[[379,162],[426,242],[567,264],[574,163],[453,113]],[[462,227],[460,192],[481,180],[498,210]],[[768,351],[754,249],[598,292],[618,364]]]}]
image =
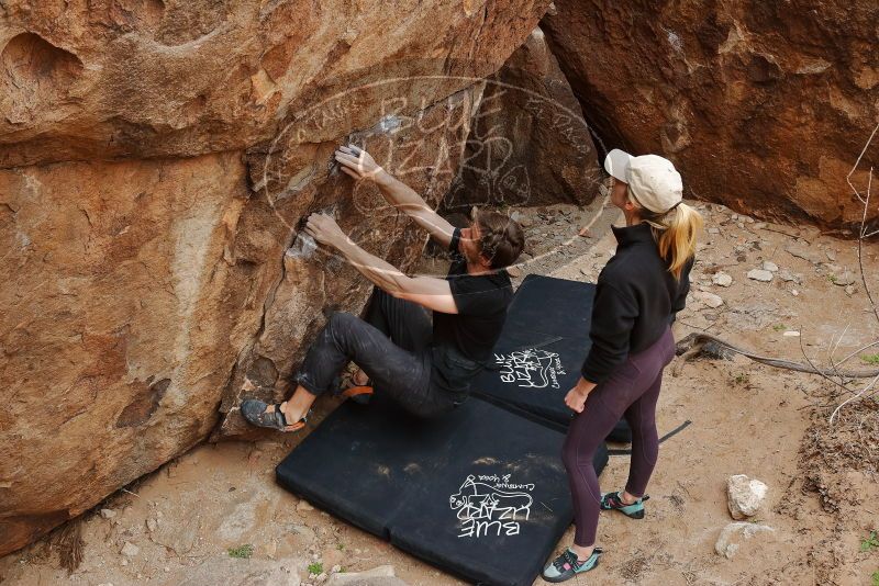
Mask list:
[{"label": "black crash pad in front, directly beneath the climbing man", "polygon": [[[346,402],[276,469],[333,515],[474,583],[531,585],[571,522],[564,436],[471,397],[425,420]],[[596,457],[601,472],[608,462]]]}]

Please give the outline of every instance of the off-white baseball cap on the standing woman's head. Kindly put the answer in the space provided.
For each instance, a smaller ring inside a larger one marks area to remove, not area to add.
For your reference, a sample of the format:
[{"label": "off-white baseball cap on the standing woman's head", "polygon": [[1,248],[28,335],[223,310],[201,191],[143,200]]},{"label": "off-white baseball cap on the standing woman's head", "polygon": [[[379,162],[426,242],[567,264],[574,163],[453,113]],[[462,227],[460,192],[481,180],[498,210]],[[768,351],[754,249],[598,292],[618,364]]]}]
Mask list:
[{"label": "off-white baseball cap on the standing woman's head", "polygon": [[658,155],[633,157],[614,148],[604,157],[604,170],[628,184],[637,202],[657,214],[664,214],[683,199],[680,173],[670,160]]}]

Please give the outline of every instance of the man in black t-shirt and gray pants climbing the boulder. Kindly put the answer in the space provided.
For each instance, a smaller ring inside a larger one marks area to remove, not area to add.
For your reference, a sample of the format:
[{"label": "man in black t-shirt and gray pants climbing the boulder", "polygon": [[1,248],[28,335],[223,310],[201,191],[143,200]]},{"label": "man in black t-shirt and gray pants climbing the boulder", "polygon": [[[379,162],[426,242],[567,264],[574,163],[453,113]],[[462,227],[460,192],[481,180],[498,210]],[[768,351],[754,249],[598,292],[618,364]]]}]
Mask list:
[{"label": "man in black t-shirt and gray pants climbing the boulder", "polygon": [[445,279],[407,277],[354,244],[332,217],[309,216],[305,233],[336,249],[376,289],[365,320],[348,313],[330,316],[293,379],[297,388],[288,401],[242,404],[242,414],[255,426],[281,431],[304,427],[314,399],[340,391],[335,381],[348,361],[359,368],[355,383],[363,386],[356,388],[368,393],[371,387],[422,417],[448,413],[467,397],[507,317],[513,291],[504,268],[524,247],[519,224],[503,214],[478,212],[469,227],[455,228],[366,150],[342,146],[335,160],[354,179],[375,182],[388,203],[448,248],[453,263]]}]

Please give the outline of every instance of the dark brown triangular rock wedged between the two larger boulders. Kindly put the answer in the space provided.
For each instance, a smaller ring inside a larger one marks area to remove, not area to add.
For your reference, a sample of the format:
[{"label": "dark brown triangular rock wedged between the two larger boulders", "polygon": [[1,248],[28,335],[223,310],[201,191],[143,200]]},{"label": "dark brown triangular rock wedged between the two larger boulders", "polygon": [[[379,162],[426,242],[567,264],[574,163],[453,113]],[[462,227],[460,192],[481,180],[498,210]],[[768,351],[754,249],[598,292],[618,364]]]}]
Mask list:
[{"label": "dark brown triangular rock wedged between the two larger boulders", "polygon": [[535,29],[488,78],[445,209],[585,205],[598,194],[601,178],[580,104]]}]

